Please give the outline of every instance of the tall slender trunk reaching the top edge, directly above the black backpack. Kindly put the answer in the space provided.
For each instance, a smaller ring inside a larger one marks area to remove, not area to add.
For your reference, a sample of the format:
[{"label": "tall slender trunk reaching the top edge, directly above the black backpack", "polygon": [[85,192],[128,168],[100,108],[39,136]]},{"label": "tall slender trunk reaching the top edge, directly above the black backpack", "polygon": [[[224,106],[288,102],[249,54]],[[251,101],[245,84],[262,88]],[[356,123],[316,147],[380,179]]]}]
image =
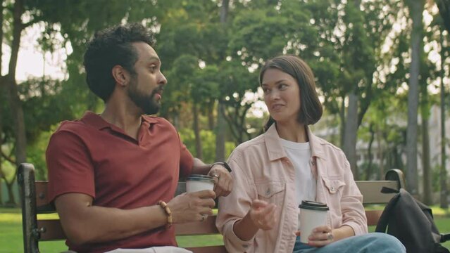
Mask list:
[{"label": "tall slender trunk reaching the top edge, directly above the black backpack", "polygon": [[413,20],[411,32],[411,66],[408,90],[408,126],[406,129],[406,186],[412,195],[418,195],[417,171],[417,113],[419,103],[418,82],[422,43],[423,1],[407,0]]}]

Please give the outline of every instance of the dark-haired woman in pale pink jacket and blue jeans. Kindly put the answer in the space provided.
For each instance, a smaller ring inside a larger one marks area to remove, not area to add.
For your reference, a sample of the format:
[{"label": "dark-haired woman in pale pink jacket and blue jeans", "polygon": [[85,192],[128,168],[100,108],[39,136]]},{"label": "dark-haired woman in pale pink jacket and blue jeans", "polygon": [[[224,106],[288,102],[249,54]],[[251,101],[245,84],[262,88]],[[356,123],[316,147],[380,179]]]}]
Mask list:
[{"label": "dark-haired woman in pale pink jacket and blue jeans", "polygon": [[[265,134],[229,158],[235,186],[220,197],[217,220],[227,250],[405,252],[390,235],[367,234],[362,195],[344,153],[308,128],[322,116],[310,67],[296,56],[278,56],[265,63],[259,82],[270,119]],[[326,226],[301,235],[307,244],[296,236],[301,200],[330,207]]]}]

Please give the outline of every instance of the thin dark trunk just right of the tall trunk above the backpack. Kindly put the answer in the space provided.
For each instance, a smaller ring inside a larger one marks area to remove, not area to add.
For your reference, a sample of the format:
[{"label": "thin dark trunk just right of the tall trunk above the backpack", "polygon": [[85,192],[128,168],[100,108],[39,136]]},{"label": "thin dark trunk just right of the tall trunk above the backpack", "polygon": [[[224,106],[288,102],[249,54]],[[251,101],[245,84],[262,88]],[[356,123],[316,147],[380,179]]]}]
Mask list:
[{"label": "thin dark trunk just right of the tall trunk above the backpack", "polygon": [[425,203],[425,205],[432,205],[433,200],[432,200],[431,166],[430,166],[430,135],[428,131],[429,131],[428,119],[427,117],[422,117],[423,202]]}]

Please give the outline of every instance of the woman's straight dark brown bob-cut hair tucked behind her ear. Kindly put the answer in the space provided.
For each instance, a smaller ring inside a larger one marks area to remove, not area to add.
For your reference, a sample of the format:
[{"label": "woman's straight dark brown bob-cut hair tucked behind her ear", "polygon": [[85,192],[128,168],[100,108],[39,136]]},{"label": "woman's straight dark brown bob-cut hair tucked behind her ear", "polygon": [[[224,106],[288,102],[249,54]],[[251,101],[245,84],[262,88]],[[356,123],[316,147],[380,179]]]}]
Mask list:
[{"label": "woman's straight dark brown bob-cut hair tucked behind her ear", "polygon": [[[323,109],[317,91],[315,91],[314,74],[311,67],[297,56],[277,56],[265,62],[265,65],[261,68],[259,73],[260,86],[265,70],[269,69],[277,69],[290,74],[299,84],[300,111],[297,119],[299,123],[308,126],[318,122],[320,117],[322,117]],[[264,131],[267,131],[273,122],[275,120],[269,117],[268,122],[264,126]]]}]

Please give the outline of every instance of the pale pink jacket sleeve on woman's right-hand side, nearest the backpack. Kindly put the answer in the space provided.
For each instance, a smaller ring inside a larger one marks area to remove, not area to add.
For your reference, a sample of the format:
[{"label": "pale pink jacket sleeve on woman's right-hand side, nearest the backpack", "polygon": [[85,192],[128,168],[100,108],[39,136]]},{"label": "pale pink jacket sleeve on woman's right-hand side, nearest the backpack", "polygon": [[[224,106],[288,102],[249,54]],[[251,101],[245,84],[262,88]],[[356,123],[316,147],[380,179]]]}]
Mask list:
[{"label": "pale pink jacket sleeve on woman's right-hand side, nearest the backpack", "polygon": [[342,192],[341,211],[342,211],[342,225],[353,228],[355,235],[362,235],[368,233],[367,218],[363,207],[363,195],[356,186],[353,174],[351,173],[349,161],[346,160],[344,154],[344,181],[346,186]]}]

